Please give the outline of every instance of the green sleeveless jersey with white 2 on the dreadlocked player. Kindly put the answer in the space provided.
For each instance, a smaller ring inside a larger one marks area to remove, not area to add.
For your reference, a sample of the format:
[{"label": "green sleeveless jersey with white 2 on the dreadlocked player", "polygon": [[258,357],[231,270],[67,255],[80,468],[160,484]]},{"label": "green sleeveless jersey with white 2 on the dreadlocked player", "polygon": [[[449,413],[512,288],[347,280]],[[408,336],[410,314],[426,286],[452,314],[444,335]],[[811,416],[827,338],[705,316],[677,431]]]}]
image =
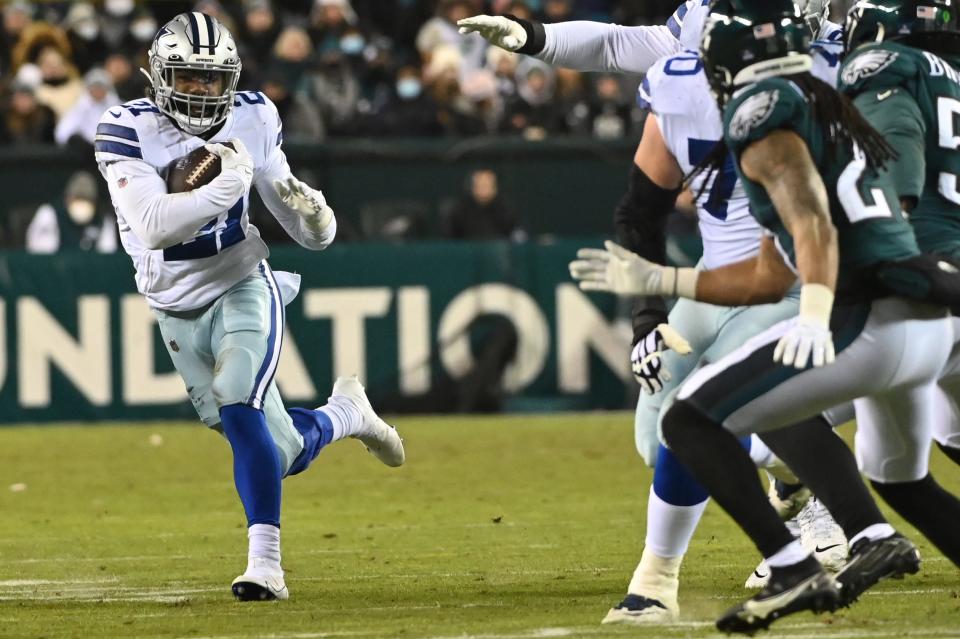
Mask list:
[{"label": "green sleeveless jersey with white 2 on the dreadlocked player", "polygon": [[724,139],[737,159],[734,164],[750,198],[751,213],[776,236],[792,262],[793,239],[766,189],[743,175],[739,161],[748,146],[777,129],[791,130],[806,142],[826,186],[840,252],[839,297],[862,293],[858,283],[878,262],[919,254],[889,176],[871,171],[863,153],[852,144],[828,155],[824,132],[801,89],[789,79],[771,78],[734,95],[724,110]]}]

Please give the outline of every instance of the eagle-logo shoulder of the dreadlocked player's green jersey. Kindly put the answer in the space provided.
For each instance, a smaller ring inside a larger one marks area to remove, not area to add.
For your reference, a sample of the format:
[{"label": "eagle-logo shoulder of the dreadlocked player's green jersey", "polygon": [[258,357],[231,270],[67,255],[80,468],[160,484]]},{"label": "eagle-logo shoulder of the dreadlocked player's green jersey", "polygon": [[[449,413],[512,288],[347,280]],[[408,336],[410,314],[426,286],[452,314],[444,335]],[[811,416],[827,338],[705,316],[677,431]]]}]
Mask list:
[{"label": "eagle-logo shoulder of the dreadlocked player's green jersey", "polygon": [[765,137],[775,129],[793,128],[806,100],[785,80],[758,82],[734,96],[724,110],[724,138],[731,150]]}]

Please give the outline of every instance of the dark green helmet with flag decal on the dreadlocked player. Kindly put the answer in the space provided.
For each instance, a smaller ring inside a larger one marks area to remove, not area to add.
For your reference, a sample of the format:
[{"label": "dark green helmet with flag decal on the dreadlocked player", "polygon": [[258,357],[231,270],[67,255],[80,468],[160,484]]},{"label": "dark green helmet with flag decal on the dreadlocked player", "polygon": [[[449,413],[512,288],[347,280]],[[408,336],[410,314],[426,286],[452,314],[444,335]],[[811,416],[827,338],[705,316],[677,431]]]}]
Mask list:
[{"label": "dark green helmet with flag decal on the dreadlocked player", "polygon": [[810,29],[790,0],[714,0],[700,55],[721,106],[738,87],[813,66]]}]

